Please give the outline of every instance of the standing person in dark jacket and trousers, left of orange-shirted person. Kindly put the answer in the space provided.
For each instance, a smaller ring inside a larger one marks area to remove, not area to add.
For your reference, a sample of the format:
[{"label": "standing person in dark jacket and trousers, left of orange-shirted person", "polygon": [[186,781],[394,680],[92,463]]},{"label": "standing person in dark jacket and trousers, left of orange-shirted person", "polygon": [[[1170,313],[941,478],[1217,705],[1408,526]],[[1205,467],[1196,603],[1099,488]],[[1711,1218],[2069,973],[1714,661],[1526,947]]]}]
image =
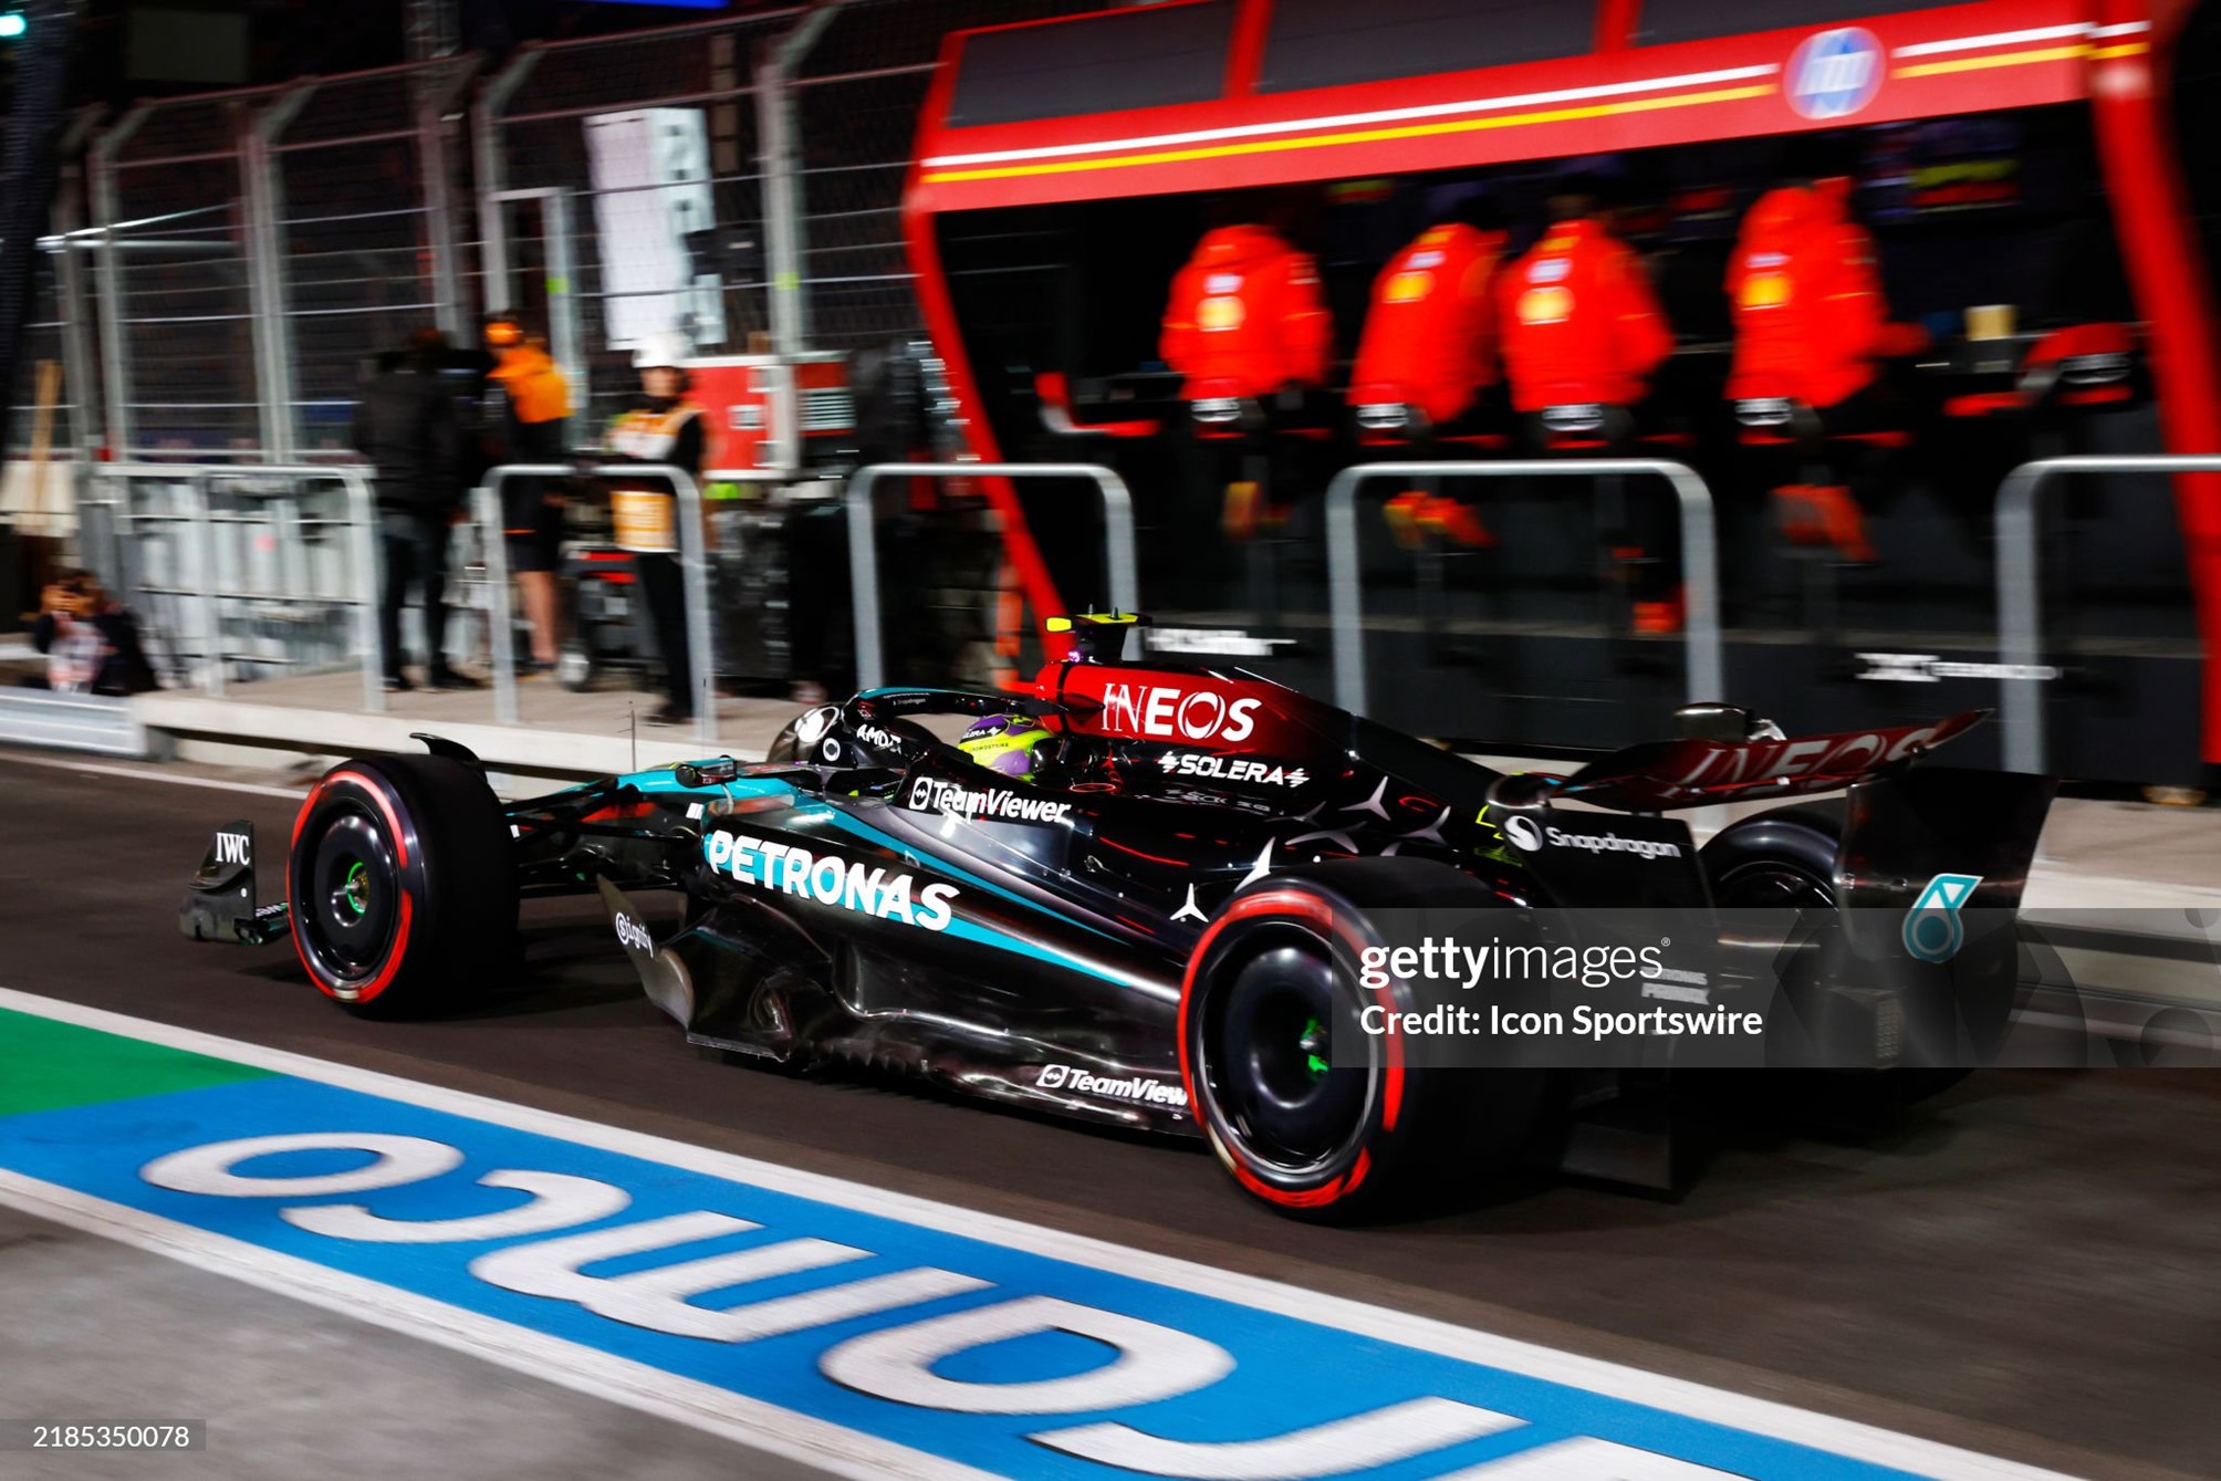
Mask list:
[{"label": "standing person in dark jacket and trousers, left of orange-shirted person", "polygon": [[420,329],[382,355],[355,406],[355,451],[378,471],[378,537],[386,582],[378,604],[386,688],[415,688],[402,673],[402,604],[424,602],[424,677],[431,688],[475,688],[446,664],[446,542],[462,508],[462,422],[440,382],[446,337]]}]

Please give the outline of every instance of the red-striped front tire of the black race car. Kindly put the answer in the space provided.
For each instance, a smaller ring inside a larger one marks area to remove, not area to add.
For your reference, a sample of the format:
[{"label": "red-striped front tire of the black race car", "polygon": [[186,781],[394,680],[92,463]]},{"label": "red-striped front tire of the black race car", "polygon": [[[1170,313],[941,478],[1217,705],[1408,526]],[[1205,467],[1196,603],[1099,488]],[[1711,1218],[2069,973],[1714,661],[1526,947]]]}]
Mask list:
[{"label": "red-striped front tire of the black race car", "polygon": [[349,1012],[458,1008],[515,959],[502,804],[451,757],[342,762],[293,824],[287,904],[309,979]]}]

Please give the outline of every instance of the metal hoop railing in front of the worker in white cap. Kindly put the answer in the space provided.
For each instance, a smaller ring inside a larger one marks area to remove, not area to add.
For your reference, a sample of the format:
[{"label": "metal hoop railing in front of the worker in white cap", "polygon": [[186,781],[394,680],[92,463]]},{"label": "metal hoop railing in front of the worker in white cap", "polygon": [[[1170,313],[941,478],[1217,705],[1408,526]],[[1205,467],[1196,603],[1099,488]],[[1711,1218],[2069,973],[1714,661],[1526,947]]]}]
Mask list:
[{"label": "metal hoop railing in front of the worker in white cap", "polygon": [[[695,739],[713,744],[717,739],[717,673],[713,651],[713,622],[708,613],[708,551],[702,531],[702,484],[684,469],[671,464],[569,464],[569,462],[511,462],[489,469],[484,482],[473,491],[478,506],[478,528],[486,544],[486,586],[491,588],[493,613],[489,644],[493,651],[493,717],[517,724],[517,653],[515,653],[515,608],[509,597],[509,522],[502,517],[502,484],[511,477],[660,477],[671,484],[680,500],[680,580],[686,595],[686,662],[693,675]],[[713,484],[777,484],[784,473],[771,469],[711,469],[702,473]]]}]

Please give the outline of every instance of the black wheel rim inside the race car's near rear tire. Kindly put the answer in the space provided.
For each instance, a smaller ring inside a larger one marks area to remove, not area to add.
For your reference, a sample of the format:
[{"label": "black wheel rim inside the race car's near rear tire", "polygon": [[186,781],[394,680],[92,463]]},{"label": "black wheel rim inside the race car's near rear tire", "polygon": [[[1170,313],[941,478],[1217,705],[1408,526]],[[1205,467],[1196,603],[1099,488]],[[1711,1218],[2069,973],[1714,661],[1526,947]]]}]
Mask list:
[{"label": "black wheel rim inside the race car's near rear tire", "polygon": [[1197,1046],[1219,1135],[1250,1166],[1290,1181],[1339,1172],[1364,1137],[1368,1075],[1330,1059],[1337,995],[1326,944],[1273,933],[1226,970]]}]

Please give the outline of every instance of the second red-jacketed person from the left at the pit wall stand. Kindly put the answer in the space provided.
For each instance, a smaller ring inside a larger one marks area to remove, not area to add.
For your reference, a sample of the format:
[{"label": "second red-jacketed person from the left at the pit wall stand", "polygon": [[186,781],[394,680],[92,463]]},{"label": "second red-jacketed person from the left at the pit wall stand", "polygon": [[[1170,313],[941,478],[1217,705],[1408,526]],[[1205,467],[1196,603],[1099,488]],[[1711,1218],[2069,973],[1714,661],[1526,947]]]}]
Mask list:
[{"label": "second red-jacketed person from the left at the pit wall stand", "polygon": [[[1435,431],[1481,402],[1501,380],[1497,269],[1504,242],[1486,198],[1466,198],[1388,258],[1373,280],[1373,306],[1357,342],[1353,406],[1413,406],[1424,422],[1408,429],[1410,442],[1426,449]],[[1417,526],[1459,544],[1493,544],[1473,508],[1424,491],[1388,500],[1388,522],[1399,533]]]}]

